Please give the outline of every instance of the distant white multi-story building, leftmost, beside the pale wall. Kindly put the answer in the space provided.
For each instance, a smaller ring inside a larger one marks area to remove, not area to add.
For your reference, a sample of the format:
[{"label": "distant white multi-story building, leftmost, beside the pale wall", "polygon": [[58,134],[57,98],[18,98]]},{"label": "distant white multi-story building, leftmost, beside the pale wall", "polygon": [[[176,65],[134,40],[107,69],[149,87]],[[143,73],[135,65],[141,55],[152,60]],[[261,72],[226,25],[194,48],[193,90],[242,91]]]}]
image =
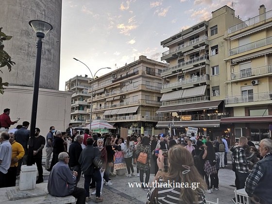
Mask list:
[{"label": "distant white multi-story building, leftmost, beside the pale wall", "polygon": [[65,83],[65,90],[72,91],[71,98],[71,119],[70,122],[74,126],[85,126],[90,121],[90,115],[87,114],[88,108],[88,84],[90,78],[83,76],[75,76]]}]

